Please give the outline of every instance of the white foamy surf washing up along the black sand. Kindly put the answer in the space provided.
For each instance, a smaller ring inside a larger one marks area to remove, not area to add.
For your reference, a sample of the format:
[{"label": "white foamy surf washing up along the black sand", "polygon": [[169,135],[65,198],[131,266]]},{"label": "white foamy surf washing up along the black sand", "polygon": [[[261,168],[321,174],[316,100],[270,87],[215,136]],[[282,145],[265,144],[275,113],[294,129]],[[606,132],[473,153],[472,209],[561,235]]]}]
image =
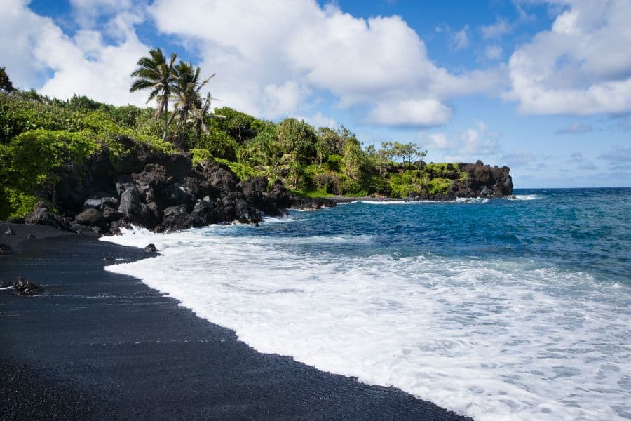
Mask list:
[{"label": "white foamy surf washing up along the black sand", "polygon": [[137,276],[260,352],[400,387],[476,420],[630,416],[627,286],[526,260],[336,259],[249,229],[109,237],[154,243],[162,255],[106,269]]}]

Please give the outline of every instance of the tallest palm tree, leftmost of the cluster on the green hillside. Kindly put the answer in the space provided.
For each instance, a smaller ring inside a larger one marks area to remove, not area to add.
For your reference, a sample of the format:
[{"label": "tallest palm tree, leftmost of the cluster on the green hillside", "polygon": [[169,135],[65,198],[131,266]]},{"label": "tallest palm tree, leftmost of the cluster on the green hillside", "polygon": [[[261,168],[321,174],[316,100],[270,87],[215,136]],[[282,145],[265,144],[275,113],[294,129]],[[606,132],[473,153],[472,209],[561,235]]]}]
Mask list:
[{"label": "tallest palm tree, leftmost of the cluster on the green hillside", "polygon": [[164,133],[162,140],[167,139],[169,126],[169,99],[171,85],[175,81],[173,63],[176,55],[171,54],[171,59],[167,62],[162,50],[154,48],[149,51],[149,57],[142,57],[138,60],[138,67],[132,72],[132,76],[137,78],[133,83],[130,92],[141,89],[151,89],[147,102],[156,99],[156,120],[164,116]]}]

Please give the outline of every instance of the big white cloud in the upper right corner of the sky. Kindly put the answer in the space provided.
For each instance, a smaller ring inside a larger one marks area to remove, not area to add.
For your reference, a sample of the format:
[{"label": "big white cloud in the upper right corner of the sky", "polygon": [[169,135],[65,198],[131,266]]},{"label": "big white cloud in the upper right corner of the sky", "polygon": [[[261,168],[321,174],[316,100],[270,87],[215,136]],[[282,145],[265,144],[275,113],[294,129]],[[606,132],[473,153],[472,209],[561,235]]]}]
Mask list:
[{"label": "big white cloud in the upper right corner of the sky", "polygon": [[527,114],[618,113],[631,110],[631,2],[566,0],[548,31],[510,58],[512,90]]}]

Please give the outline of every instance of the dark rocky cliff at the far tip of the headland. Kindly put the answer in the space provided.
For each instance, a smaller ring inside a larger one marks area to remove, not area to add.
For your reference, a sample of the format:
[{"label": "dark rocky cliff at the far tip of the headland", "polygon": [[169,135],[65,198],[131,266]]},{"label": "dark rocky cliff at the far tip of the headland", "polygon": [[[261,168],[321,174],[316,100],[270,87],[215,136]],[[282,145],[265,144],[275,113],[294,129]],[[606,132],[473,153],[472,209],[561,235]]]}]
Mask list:
[{"label": "dark rocky cliff at the far tip of the headland", "polygon": [[449,189],[449,196],[454,197],[503,197],[513,194],[513,178],[507,166],[484,165],[482,161],[476,163],[459,163],[461,171],[468,174],[468,178],[454,180]]}]

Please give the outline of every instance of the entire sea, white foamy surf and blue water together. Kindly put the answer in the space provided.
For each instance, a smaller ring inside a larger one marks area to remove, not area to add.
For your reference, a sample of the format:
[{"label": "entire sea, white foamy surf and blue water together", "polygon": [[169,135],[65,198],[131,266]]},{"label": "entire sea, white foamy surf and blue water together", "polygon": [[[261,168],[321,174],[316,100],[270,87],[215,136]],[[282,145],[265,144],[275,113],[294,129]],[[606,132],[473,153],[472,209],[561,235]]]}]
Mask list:
[{"label": "entire sea, white foamy surf and blue water together", "polygon": [[355,202],[260,227],[105,238],[107,270],[260,352],[476,420],[631,418],[631,189]]}]

